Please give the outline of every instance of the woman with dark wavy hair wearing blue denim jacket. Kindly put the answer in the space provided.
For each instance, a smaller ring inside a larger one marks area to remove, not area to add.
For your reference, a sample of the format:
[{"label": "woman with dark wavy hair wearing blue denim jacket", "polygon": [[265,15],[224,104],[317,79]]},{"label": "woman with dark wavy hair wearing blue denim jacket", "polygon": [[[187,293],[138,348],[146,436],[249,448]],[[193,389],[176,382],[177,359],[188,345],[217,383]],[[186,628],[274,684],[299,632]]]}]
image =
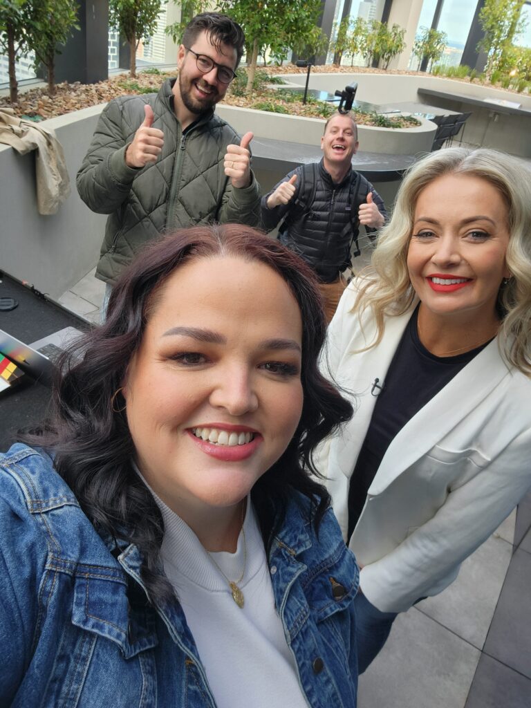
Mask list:
[{"label": "woman with dark wavy hair wearing blue denim jacket", "polygon": [[352,413],[324,333],[307,266],[247,227],[122,275],[0,458],[1,705],[355,706],[358,569],[307,472]]}]

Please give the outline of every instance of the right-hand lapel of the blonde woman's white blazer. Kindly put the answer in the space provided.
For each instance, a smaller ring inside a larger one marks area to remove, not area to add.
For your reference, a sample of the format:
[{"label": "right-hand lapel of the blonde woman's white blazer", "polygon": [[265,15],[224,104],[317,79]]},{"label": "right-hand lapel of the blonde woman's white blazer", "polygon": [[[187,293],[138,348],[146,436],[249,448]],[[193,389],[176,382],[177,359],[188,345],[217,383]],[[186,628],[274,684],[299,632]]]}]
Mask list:
[{"label": "right-hand lapel of the blonde woman's white blazer", "polygon": [[473,415],[506,375],[508,367],[494,339],[400,430],[387,448],[369,493],[382,493],[460,421]]}]

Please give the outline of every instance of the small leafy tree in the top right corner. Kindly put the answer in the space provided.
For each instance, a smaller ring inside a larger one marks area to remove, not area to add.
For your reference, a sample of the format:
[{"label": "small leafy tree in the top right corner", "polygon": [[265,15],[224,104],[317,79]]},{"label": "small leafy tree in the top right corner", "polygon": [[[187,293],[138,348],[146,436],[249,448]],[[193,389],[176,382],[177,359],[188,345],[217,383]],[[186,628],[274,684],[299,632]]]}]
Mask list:
[{"label": "small leafy tree in the top right corner", "polygon": [[503,55],[525,28],[525,21],[520,18],[524,1],[486,0],[479,12],[479,23],[485,35],[478,49],[487,54],[485,73],[489,80],[492,73],[501,68]]}]

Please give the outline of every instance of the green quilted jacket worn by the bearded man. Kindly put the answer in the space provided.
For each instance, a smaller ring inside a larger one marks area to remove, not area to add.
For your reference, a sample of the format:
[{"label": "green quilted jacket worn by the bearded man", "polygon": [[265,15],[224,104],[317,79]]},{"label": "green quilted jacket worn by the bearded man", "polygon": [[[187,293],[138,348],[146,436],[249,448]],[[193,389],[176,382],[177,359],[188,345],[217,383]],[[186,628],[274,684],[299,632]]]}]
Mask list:
[{"label": "green quilted jacket worn by the bearded man", "polygon": [[[183,135],[173,113],[174,81],[159,93],[110,101],[77,173],[81,199],[109,215],[96,268],[105,282],[115,282],[142,245],[162,233],[214,221],[260,223],[256,178],[236,189],[224,174],[223,157],[227,145],[239,144],[237,133],[210,111]],[[145,103],[153,108],[153,127],[164,132],[164,147],[156,163],[135,169],[125,164],[125,148],[144,120]]]}]

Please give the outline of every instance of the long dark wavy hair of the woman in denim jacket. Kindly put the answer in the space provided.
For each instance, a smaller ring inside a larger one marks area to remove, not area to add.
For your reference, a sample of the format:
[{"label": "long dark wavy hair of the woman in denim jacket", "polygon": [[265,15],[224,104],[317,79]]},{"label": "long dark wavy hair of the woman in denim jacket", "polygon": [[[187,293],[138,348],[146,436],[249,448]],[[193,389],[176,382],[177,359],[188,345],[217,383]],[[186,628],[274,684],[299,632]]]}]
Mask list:
[{"label": "long dark wavy hair of the woman in denim jacket", "polygon": [[184,263],[223,256],[268,265],[289,285],[302,314],[302,416],[285,452],[251,491],[266,548],[282,526],[287,501],[297,498],[294,490],[309,498],[309,520],[318,529],[330,497],[309,472],[316,474],[312,453],[353,412],[319,372],[324,314],[314,275],[295,253],[236,224],[181,229],[147,246],[118,279],[105,324],[78,341],[62,362],[39,444],[53,453],[57,471],[98,532],[137,545],[152,600],[172,593],[159,559],[164,523],[152,493],[132,468],[135,447],[125,409],[120,411],[125,401],[115,392],[169,275]]}]

